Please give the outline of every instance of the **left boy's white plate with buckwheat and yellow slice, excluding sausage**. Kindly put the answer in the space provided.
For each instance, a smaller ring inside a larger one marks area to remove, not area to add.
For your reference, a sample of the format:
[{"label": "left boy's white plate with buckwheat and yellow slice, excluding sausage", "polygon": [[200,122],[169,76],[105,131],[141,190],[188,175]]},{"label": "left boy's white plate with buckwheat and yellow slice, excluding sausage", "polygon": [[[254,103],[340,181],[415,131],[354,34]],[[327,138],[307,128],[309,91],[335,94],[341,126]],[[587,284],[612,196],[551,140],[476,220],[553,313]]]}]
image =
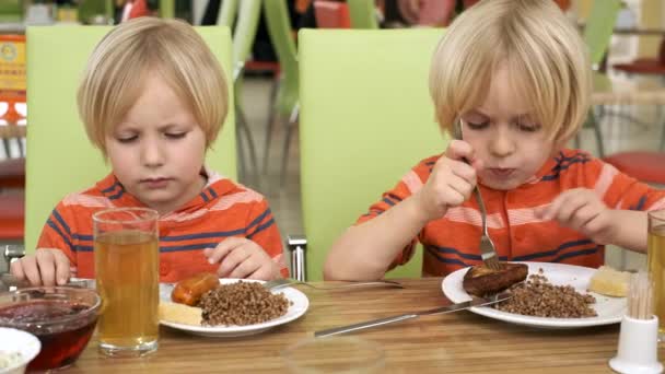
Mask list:
[{"label": "left boy's white plate with buckwheat and yellow slice, excluding sausage", "polygon": [[160,284],[160,324],[203,337],[255,335],[298,319],[307,312],[307,296],[294,289],[269,291],[264,281],[220,279],[196,306],[173,303],[174,284]]}]

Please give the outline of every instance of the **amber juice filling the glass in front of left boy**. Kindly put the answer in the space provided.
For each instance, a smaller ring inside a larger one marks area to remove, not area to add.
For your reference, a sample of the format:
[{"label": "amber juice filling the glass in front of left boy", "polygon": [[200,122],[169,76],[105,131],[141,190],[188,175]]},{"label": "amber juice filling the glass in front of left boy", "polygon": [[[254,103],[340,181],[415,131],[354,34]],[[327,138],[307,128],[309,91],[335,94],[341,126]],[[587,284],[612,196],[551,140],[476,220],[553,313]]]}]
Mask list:
[{"label": "amber juice filling the glass in front of left boy", "polygon": [[139,231],[100,234],[95,238],[95,273],[102,296],[100,342],[141,347],[159,337],[158,237]]}]

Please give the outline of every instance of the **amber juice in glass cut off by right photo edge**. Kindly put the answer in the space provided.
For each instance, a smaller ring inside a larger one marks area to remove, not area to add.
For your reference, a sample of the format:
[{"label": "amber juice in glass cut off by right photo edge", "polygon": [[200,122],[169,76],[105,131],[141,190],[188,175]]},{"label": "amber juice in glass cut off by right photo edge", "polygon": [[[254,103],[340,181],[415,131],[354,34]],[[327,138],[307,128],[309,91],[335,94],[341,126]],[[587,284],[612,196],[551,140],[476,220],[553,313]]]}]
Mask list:
[{"label": "amber juice in glass cut off by right photo edge", "polygon": [[658,337],[665,337],[665,225],[649,231],[649,273],[653,282],[654,314],[658,316]]}]

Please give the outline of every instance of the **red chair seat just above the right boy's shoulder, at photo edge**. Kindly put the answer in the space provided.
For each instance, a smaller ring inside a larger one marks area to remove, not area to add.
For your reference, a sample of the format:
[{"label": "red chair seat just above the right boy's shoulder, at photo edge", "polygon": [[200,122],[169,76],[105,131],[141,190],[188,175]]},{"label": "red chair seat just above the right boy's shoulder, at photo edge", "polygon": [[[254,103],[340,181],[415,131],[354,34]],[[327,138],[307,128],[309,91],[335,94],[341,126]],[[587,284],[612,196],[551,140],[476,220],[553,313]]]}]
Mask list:
[{"label": "red chair seat just above the right boy's shoulder, at photo edge", "polygon": [[634,151],[620,152],[603,159],[620,172],[640,182],[665,185],[665,153]]}]

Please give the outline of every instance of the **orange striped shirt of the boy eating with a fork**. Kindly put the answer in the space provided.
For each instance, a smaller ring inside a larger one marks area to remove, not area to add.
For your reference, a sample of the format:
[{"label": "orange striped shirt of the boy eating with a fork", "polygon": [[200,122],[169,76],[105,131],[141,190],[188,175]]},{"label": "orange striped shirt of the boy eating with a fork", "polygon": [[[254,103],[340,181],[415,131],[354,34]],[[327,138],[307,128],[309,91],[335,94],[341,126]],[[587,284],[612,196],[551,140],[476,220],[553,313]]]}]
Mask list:
[{"label": "orange striped shirt of the boy eating with a fork", "polygon": [[[377,217],[422,188],[439,157],[421,161],[393,190],[385,192],[383,199],[374,203],[358,223]],[[544,221],[536,215],[537,210],[569,189],[592,189],[612,209],[665,209],[664,190],[639,183],[578,150],[561,151],[548,160],[534,177],[515,189],[495,190],[482,184],[479,187],[488,213],[488,232],[501,260],[563,262],[594,268],[604,262],[604,246],[556,221]],[[443,218],[429,222],[393,266],[409,260],[416,241],[420,241],[424,247],[423,276],[445,276],[480,264],[480,234],[478,203],[476,199],[469,199],[459,207],[450,208]]]}]

